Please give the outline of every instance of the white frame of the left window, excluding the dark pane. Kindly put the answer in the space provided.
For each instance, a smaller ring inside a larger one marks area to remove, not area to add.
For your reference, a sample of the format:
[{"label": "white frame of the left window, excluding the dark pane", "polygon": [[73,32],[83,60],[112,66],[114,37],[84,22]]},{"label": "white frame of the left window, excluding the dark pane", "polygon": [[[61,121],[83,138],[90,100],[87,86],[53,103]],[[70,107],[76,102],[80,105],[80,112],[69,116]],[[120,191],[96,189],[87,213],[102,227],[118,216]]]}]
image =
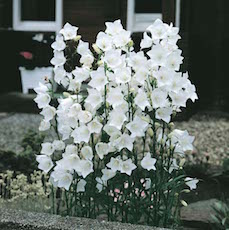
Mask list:
[{"label": "white frame of the left window, excluding the dark pane", "polygon": [[55,21],[23,21],[21,19],[21,0],[13,0],[13,30],[58,33],[63,22],[63,0],[55,1]]}]

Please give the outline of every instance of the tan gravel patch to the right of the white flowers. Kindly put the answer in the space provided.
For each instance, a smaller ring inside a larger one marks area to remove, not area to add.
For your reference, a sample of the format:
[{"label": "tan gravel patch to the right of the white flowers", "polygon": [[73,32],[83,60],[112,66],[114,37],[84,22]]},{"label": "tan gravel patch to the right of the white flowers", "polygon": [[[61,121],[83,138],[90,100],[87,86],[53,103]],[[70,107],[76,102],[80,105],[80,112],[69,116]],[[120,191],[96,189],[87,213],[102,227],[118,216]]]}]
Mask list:
[{"label": "tan gravel patch to the right of the white flowers", "polygon": [[208,161],[218,165],[229,157],[229,119],[196,115],[188,122],[176,122],[175,127],[195,136],[195,150],[188,156],[193,163]]}]

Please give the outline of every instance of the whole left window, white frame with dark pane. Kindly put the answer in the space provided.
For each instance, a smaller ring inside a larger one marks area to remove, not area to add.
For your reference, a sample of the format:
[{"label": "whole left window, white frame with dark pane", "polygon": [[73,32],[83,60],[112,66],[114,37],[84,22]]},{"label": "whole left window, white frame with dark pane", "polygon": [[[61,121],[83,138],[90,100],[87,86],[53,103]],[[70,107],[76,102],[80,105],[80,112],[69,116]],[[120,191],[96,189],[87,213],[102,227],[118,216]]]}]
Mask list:
[{"label": "whole left window, white frame with dark pane", "polygon": [[59,32],[62,6],[63,0],[13,0],[13,29]]}]

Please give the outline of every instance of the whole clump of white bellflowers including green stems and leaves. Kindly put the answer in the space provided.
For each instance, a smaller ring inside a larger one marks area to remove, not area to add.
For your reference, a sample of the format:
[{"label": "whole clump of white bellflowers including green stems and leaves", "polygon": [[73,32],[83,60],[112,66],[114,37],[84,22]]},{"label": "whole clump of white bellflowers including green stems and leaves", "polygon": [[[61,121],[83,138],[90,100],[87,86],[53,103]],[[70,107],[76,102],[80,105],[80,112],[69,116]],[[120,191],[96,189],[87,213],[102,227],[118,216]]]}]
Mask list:
[{"label": "whole clump of white bellflowers including green stems and leaves", "polygon": [[42,144],[38,167],[64,188],[68,215],[177,224],[187,205],[180,195],[198,182],[183,171],[194,137],[172,123],[197,99],[188,74],[179,72],[178,28],[156,20],[139,52],[120,20],[106,23],[93,50],[77,32],[65,24],[52,44],[54,79],[35,88],[39,130],[58,136]]}]

